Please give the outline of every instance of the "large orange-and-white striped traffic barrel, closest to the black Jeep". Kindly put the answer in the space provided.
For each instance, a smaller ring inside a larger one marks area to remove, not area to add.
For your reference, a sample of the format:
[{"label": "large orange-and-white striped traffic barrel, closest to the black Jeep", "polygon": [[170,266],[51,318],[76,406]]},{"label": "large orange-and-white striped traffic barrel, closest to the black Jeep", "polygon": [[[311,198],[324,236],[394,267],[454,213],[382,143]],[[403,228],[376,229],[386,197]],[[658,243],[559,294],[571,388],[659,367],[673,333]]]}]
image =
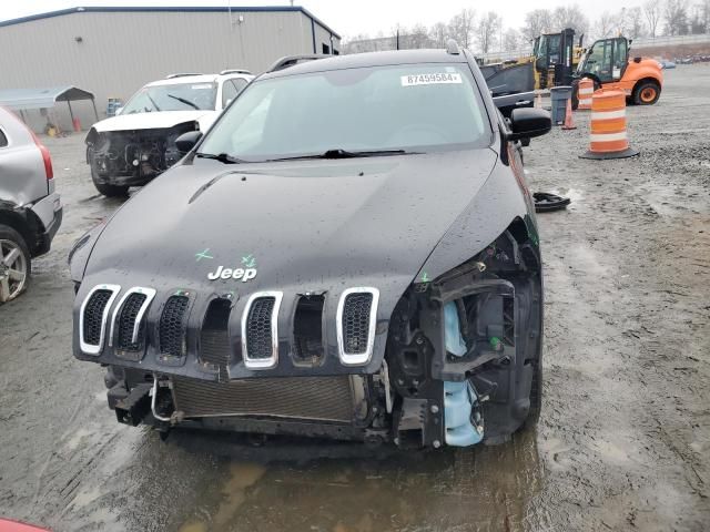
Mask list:
[{"label": "large orange-and-white striped traffic barrel, closest to the black Jeep", "polygon": [[581,158],[623,158],[638,155],[626,135],[626,94],[596,91],[591,98],[589,150]]}]

